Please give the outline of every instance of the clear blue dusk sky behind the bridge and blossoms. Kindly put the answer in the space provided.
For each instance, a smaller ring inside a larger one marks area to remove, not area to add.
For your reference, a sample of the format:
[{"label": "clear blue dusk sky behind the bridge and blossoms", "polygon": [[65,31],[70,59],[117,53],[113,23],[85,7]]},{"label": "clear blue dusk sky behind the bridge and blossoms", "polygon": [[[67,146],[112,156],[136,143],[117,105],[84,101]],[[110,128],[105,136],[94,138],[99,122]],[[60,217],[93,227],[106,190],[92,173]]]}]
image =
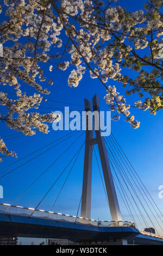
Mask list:
[{"label": "clear blue dusk sky behind the bridge and blossoms", "polygon": [[[126,7],[127,10],[133,11],[136,9],[141,9],[143,3],[146,1],[136,1],[132,2],[129,0],[121,0],[120,5]],[[46,64],[47,65],[47,64]],[[79,105],[84,105],[84,98],[91,100],[92,96],[97,93],[99,95],[99,101],[101,109],[107,111],[107,105],[103,99],[105,95],[105,88],[97,81],[92,80],[88,74],[84,75],[83,80],[80,82],[77,88],[70,88],[67,86],[67,77],[69,72],[59,71],[58,73],[49,73],[48,68],[45,67],[47,75],[54,76],[54,85],[50,87],[51,95],[48,99],[55,101],[65,101],[71,102]],[[127,74],[130,71],[127,71]],[[117,84],[119,86],[120,92],[123,92],[121,85],[109,81],[108,85]],[[6,89],[7,90],[7,89]],[[10,90],[11,92],[11,90]],[[32,88],[27,88],[28,93],[33,93]],[[48,107],[48,111],[54,111],[54,108],[63,108],[64,104],[56,102],[44,103],[45,107]],[[67,105],[65,105],[67,106]],[[73,106],[70,105],[70,108]],[[74,106],[74,110],[84,109],[84,107]],[[40,111],[46,111],[42,109]],[[111,131],[115,135],[118,143],[120,143],[122,149],[128,156],[130,162],[133,164],[137,173],[140,175],[142,181],[147,186],[149,192],[151,192],[152,197],[158,204],[159,208],[163,211],[162,203],[163,199],[158,198],[158,187],[163,184],[162,175],[162,112],[158,112],[155,116],[147,112],[141,112],[139,110],[133,109],[133,114],[141,122],[140,128],[134,130],[128,123],[126,123],[121,118],[120,121],[111,122]],[[53,131],[52,125],[51,132],[48,135],[43,135],[37,133],[37,135],[29,137],[22,136],[20,138],[9,139],[7,142],[8,148],[16,151],[18,159],[30,151],[34,151],[43,147],[44,145],[51,143],[53,140],[66,135],[69,131]],[[1,123],[1,136],[7,136],[15,131],[10,130],[7,126]],[[18,135],[20,133],[17,133]],[[82,131],[79,132],[82,134]],[[17,136],[18,136],[17,135]],[[17,137],[15,136],[15,137]],[[73,139],[77,138],[76,135],[68,139],[65,143],[62,143],[58,147],[49,150],[47,153],[38,157],[34,161],[24,165],[23,167],[17,169],[15,172],[5,176],[0,180],[0,185],[4,187],[4,199],[0,199],[1,203],[11,203],[21,192],[28,187],[28,185],[35,179],[43,170],[45,170],[49,164],[51,164],[55,158],[57,158],[63,150],[65,150],[68,145],[73,142]],[[10,137],[7,137],[8,139]],[[36,182],[36,184],[30,188],[18,201],[16,205],[22,205],[27,207],[35,207],[39,203],[40,199],[43,197],[48,188],[52,185],[53,180],[57,178],[62,169],[66,166],[67,162],[70,161],[73,154],[76,153],[80,145],[84,140],[84,135],[79,139],[78,143],[74,145],[68,152],[61,158],[48,172],[43,175],[43,177]],[[34,155],[28,157],[27,159],[18,162],[11,167],[1,170],[1,174],[5,174],[14,167],[20,165],[21,163],[32,158]],[[77,164],[74,166],[72,173],[66,182],[65,189],[62,191],[61,196],[53,209],[55,212],[62,212],[64,214],[77,214],[77,209],[79,205],[79,200],[82,193],[82,179],[83,179],[83,160],[84,160],[84,150],[80,153],[80,158]],[[95,161],[95,157],[93,158]],[[4,157],[4,161],[1,163],[0,168],[7,166],[9,163],[16,161],[11,157]],[[47,198],[43,200],[39,209],[50,210],[53,202],[64,182],[68,170],[63,175],[63,177],[57,182],[53,190],[48,194]],[[121,202],[120,202],[121,204]],[[122,213],[126,218],[128,218],[127,212],[122,204]],[[110,213],[106,203],[102,183],[98,173],[97,165],[93,164],[92,172],[92,216],[93,219],[110,219]],[[28,240],[26,240],[27,242]]]}]

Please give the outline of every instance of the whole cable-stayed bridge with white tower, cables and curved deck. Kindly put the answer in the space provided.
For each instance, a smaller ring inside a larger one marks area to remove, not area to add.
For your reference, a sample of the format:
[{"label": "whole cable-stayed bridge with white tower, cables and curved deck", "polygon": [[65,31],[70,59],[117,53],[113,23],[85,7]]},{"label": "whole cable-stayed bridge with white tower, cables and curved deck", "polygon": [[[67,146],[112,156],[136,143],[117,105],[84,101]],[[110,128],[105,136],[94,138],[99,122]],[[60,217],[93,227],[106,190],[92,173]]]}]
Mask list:
[{"label": "whole cable-stayed bridge with white tower, cables and curved deck", "polygon": [[[92,109],[99,113],[98,120],[100,120],[101,115],[97,95],[93,97],[93,108],[91,103],[88,100],[85,100],[85,111],[92,112]],[[11,169],[10,166],[12,164],[9,164],[5,167],[9,168],[9,170],[1,175],[0,179],[14,173],[18,168],[32,162],[49,150],[64,144],[62,153],[49,164],[49,166],[39,174],[39,176],[37,176],[37,178],[33,180],[11,204],[0,204],[0,236],[59,237],[60,239],[69,239],[78,242],[105,241],[123,245],[126,245],[129,240],[134,240],[136,244],[163,245],[163,236],[161,236],[161,234],[163,234],[163,216],[160,209],[155,204],[146,186],[127,159],[127,156],[124,154],[124,151],[116,141],[114,135],[111,133],[108,137],[102,137],[100,127],[98,130],[89,130],[89,120],[90,117],[87,115],[86,131],[82,132],[82,135],[79,135],[78,131],[70,132],[68,135],[62,136],[44,147],[33,151],[35,154],[40,150],[43,150],[41,153],[21,163],[19,166]],[[72,141],[74,135],[79,136]],[[82,138],[83,135],[85,135],[85,139],[82,142],[82,145],[80,145],[75,154],[72,154],[71,160],[66,164],[66,167],[58,175],[57,179],[53,181],[52,186],[48,188],[47,192],[43,195],[39,203],[37,203],[35,208],[27,208],[17,205],[17,200],[34,186],[59,159],[62,159],[68,150],[70,152],[74,144],[79,143],[79,139]],[[71,143],[68,144],[68,147],[66,148],[65,142],[67,139],[71,139]],[[77,213],[72,216],[68,215],[68,212],[66,214],[54,212],[54,206],[58,201],[61,192],[64,190],[68,178],[70,178],[74,165],[77,164],[77,160],[80,157],[84,145],[83,188]],[[30,156],[30,154],[27,156]],[[95,156],[95,161],[92,159],[93,155]],[[22,157],[20,160],[25,159],[27,156]],[[16,162],[20,160],[18,159]],[[111,215],[110,221],[91,220],[92,165],[95,164],[95,162],[102,180],[106,202],[109,206]],[[62,182],[59,193],[57,194],[51,209],[49,209],[49,211],[40,209],[41,203],[57,184],[67,168],[70,168],[70,170],[67,173],[64,182]],[[128,216],[127,220],[124,220],[120,209],[119,203],[122,202],[126,209],[125,214]]]}]

